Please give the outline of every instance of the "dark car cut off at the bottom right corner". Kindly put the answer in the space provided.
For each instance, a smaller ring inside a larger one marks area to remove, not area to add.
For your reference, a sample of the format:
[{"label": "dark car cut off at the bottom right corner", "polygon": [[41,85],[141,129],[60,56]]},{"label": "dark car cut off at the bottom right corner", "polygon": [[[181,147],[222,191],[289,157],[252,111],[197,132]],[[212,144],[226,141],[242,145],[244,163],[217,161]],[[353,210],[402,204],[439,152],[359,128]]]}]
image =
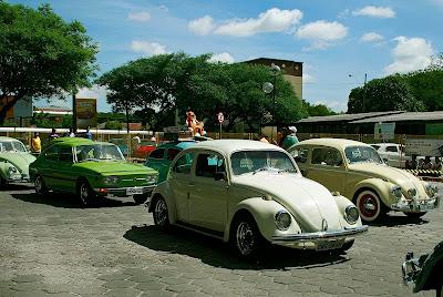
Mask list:
[{"label": "dark car cut off at the bottom right corner", "polygon": [[413,286],[413,291],[435,289],[436,297],[443,296],[443,242],[437,244],[430,254],[414,258],[408,253],[402,265],[403,281]]}]

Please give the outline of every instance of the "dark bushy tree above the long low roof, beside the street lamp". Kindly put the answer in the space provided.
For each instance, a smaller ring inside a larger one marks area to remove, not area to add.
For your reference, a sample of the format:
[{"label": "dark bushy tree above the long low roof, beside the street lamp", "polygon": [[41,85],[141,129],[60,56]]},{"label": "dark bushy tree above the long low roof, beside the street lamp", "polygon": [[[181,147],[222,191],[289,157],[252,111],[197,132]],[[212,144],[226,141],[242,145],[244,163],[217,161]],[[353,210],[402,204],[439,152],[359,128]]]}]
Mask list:
[{"label": "dark bushy tree above the long low roof, beside the street lamp", "polygon": [[349,94],[348,113],[377,111],[423,111],[402,75],[375,79]]}]

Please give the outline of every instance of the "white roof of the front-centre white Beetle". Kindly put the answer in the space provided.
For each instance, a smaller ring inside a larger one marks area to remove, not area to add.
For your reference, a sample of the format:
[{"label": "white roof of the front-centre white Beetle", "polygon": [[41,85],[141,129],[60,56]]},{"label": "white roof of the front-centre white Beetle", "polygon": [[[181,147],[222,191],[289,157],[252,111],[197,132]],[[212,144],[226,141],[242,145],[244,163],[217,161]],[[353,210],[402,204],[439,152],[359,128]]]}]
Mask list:
[{"label": "white roof of the front-centre white Beetle", "polygon": [[243,150],[275,150],[284,151],[277,145],[264,143],[260,141],[248,141],[248,140],[214,140],[199,142],[193,146],[193,148],[208,148],[208,150],[220,150],[227,154],[235,151]]}]

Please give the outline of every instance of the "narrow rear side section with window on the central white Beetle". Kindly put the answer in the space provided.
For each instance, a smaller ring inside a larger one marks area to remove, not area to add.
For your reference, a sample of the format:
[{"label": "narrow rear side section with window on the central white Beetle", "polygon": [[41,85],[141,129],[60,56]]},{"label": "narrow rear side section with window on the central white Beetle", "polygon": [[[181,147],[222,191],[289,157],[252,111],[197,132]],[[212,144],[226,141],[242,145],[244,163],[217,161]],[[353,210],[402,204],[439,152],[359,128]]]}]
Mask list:
[{"label": "narrow rear side section with window on the central white Beetle", "polygon": [[189,222],[188,199],[189,187],[192,187],[190,176],[194,155],[193,152],[188,152],[179,156],[172,167],[171,178],[168,181],[175,198],[177,219],[185,223]]}]

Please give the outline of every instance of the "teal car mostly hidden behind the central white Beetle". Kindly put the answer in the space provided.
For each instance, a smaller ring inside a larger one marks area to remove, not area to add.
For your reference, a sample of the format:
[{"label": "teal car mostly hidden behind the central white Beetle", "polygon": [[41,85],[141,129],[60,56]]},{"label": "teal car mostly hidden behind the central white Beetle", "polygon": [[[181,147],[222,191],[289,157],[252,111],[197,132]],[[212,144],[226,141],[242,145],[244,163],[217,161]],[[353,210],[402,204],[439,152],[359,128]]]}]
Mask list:
[{"label": "teal car mostly hidden behind the central white Beetle", "polygon": [[168,142],[158,145],[146,158],[145,166],[158,172],[158,183],[166,180],[171,162],[183,150],[196,144],[195,141]]}]

